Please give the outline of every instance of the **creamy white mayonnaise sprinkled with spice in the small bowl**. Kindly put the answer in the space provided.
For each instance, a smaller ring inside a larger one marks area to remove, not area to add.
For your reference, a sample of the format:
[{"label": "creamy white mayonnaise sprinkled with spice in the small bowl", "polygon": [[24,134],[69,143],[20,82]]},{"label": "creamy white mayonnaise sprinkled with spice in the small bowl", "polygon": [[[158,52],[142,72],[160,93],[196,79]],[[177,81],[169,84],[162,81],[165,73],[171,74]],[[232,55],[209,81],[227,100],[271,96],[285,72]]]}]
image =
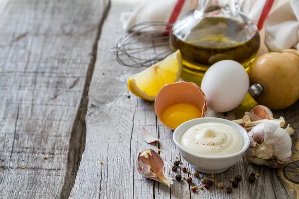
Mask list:
[{"label": "creamy white mayonnaise sprinkled with spice in the small bowl", "polygon": [[189,128],[182,136],[181,145],[198,155],[224,156],[237,153],[243,147],[240,133],[233,127],[208,122]]}]

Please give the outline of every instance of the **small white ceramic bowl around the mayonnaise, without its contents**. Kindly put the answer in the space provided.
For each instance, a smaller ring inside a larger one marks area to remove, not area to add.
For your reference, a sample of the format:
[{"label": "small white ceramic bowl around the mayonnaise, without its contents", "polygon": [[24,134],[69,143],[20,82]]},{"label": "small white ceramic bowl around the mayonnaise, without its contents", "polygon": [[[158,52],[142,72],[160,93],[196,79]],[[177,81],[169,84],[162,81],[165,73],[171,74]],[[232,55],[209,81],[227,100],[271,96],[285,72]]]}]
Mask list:
[{"label": "small white ceramic bowl around the mayonnaise, without its contents", "polygon": [[[207,122],[223,123],[235,128],[243,139],[242,149],[237,153],[226,156],[203,156],[197,155],[183,148],[180,144],[182,135],[192,126]],[[174,130],[172,138],[183,158],[189,162],[196,171],[206,174],[221,173],[236,164],[242,158],[250,143],[248,133],[242,126],[230,120],[215,117],[203,117],[186,121]]]}]

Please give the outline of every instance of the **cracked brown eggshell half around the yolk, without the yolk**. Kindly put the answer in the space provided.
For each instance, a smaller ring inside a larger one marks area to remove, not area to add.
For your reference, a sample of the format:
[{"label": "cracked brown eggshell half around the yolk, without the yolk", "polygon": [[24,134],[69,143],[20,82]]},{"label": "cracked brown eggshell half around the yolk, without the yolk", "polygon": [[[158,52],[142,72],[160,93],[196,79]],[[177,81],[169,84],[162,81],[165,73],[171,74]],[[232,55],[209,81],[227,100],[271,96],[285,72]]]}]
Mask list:
[{"label": "cracked brown eggshell half around the yolk, without the yolk", "polygon": [[[207,100],[205,94],[199,86],[192,82],[176,82],[165,85],[157,94],[154,101],[154,111],[159,120],[167,126],[162,120],[163,111],[171,105],[177,103],[190,103],[201,110],[201,117],[204,117],[207,111]],[[169,126],[167,126],[170,128]],[[170,128],[174,130],[173,128]]]}]

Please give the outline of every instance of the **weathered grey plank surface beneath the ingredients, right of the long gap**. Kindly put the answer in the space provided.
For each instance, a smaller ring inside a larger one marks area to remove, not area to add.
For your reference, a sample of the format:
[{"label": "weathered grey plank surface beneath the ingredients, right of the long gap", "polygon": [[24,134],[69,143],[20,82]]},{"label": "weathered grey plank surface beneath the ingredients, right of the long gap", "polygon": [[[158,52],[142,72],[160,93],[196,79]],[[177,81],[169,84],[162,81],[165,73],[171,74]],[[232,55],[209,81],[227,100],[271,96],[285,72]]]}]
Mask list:
[{"label": "weathered grey plank surface beneath the ingredients, right of the long gap", "polygon": [[[183,180],[181,182],[174,180],[174,184],[168,188],[163,184],[144,178],[137,172],[136,156],[139,151],[144,149],[151,148],[157,151],[159,148],[161,157],[170,164],[177,160],[176,156],[178,158],[180,156],[172,141],[172,132],[156,118],[153,102],[131,96],[127,90],[128,78],[143,68],[121,66],[117,63],[115,55],[109,53],[123,31],[120,13],[133,10],[134,7],[136,4],[112,0],[108,17],[103,26],[98,43],[97,62],[89,91],[88,113],[86,115],[86,148],[70,198],[297,198],[297,191],[287,189],[287,181],[282,179],[277,170],[264,166],[254,166],[245,158],[226,172],[216,174],[215,185],[209,191],[199,190],[196,193],[192,193],[190,186]],[[105,75],[102,75],[102,72]],[[298,114],[295,112],[299,111],[299,102],[296,104],[284,111],[277,111],[275,114],[276,116],[284,116],[287,122],[291,123],[291,126],[298,131]],[[245,110],[248,109],[241,106],[226,116],[209,110],[207,116],[236,119],[236,115],[237,118],[242,117]],[[143,126],[160,141],[148,144],[143,139]],[[296,136],[298,134],[294,137]],[[293,140],[293,143],[298,143],[298,140]],[[103,165],[100,164],[100,161],[103,161]],[[193,173],[194,170],[190,168],[187,162],[183,159],[182,161],[183,164],[179,168],[187,167]],[[260,173],[255,184],[250,184],[247,180],[251,172]],[[178,173],[181,173],[180,169],[177,172],[170,172],[173,177]],[[187,174],[181,174],[187,177]],[[238,189],[233,190],[232,194],[226,194],[225,189],[216,188],[220,182],[224,184],[225,188],[231,186],[229,180],[236,175],[241,175],[243,181],[239,184]],[[199,178],[192,177],[192,186],[200,186],[200,179],[203,177],[210,178],[210,175],[200,174]]]}]

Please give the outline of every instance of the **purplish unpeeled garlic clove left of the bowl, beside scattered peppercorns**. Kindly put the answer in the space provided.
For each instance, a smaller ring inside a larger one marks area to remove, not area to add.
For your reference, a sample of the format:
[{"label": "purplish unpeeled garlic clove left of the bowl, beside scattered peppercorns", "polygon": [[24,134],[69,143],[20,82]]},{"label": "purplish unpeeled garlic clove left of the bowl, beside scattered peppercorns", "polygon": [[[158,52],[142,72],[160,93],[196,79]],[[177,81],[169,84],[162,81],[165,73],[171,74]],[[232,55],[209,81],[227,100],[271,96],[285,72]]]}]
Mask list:
[{"label": "purplish unpeeled garlic clove left of the bowl, beside scattered peppercorns", "polygon": [[138,172],[146,178],[156,180],[170,187],[173,184],[167,174],[169,165],[153,150],[147,149],[139,152],[136,161]]}]

